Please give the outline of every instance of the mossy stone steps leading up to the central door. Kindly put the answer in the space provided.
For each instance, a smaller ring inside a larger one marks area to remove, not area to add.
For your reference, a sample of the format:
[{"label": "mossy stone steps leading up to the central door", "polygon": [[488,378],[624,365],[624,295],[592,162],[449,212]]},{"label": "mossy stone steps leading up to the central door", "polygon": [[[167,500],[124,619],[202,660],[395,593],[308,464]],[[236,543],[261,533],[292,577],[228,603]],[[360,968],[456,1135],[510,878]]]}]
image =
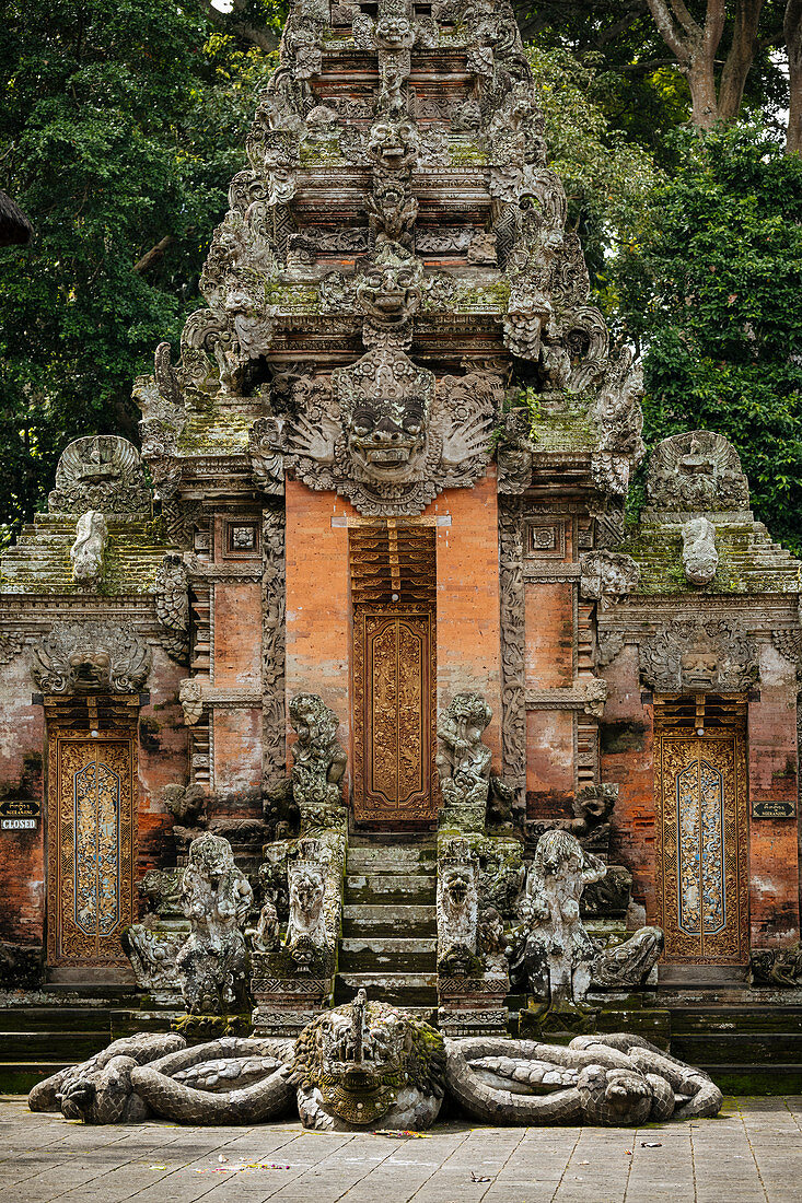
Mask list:
[{"label": "mossy stone steps leading up to the central door", "polygon": [[434,840],[352,836],[335,1005],[360,988],[429,1018],[437,1007],[437,863]]}]

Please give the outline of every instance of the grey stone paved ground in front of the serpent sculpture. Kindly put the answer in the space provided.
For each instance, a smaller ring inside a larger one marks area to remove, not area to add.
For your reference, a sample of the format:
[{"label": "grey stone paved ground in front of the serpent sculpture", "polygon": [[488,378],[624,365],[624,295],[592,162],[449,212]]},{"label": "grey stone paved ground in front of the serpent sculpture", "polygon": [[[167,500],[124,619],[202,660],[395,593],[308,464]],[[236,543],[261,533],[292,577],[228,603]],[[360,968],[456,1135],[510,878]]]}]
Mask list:
[{"label": "grey stone paved ground in front of the serpent sculpture", "polygon": [[802,1096],[631,1128],[444,1124],[425,1139],[170,1124],[85,1127],[0,1100],[0,1203],[790,1203]]}]

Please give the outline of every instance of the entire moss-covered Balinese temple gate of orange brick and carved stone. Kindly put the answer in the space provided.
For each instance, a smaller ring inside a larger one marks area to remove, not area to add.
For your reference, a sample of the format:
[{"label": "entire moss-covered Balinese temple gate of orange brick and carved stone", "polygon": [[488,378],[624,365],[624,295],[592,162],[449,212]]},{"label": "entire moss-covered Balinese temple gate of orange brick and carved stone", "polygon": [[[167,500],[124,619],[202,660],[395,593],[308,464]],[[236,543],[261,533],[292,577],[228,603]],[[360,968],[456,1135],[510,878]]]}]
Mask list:
[{"label": "entire moss-covered Balinese temple gate of orange brick and carved stone", "polygon": [[[71,444],[2,557],[4,1080],[78,1015],[88,1051],[143,1011],[289,1033],[365,988],[779,1089],[800,564],[707,431],[625,523],[641,378],[507,0],[295,0],[246,149],[141,449]],[[532,937],[555,830],[586,980]]]}]

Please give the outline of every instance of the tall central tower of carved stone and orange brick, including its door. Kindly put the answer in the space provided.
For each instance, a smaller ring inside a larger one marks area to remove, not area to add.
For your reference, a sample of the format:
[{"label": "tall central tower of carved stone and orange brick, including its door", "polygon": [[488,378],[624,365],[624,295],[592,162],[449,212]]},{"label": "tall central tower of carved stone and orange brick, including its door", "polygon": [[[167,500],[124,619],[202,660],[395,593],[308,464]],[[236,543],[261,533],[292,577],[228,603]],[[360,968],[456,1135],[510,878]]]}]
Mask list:
[{"label": "tall central tower of carved stone and orange brick, including its door", "polygon": [[509,6],[299,0],[247,149],[207,308],[138,384],[193,589],[193,778],[260,814],[312,692],[354,820],[431,823],[435,715],[477,691],[537,813],[598,780],[579,557],[620,538],[643,446]]}]

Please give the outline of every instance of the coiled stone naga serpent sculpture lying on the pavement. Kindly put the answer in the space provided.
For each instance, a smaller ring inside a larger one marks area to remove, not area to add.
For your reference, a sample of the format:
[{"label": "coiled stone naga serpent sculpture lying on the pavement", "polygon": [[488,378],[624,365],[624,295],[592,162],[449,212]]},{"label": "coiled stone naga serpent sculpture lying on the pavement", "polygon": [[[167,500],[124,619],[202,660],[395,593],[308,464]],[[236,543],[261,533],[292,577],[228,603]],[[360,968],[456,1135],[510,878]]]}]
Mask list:
[{"label": "coiled stone naga serpent sculpture lying on the pavement", "polygon": [[497,1125],[638,1125],[718,1114],[701,1069],[637,1036],[579,1036],[567,1047],[503,1037],[444,1039],[403,1011],[355,1002],[326,1011],[297,1041],[177,1035],[114,1041],[34,1086],[34,1112],[87,1124],[265,1124],[297,1107],[305,1127],[425,1128],[449,1095]]}]

